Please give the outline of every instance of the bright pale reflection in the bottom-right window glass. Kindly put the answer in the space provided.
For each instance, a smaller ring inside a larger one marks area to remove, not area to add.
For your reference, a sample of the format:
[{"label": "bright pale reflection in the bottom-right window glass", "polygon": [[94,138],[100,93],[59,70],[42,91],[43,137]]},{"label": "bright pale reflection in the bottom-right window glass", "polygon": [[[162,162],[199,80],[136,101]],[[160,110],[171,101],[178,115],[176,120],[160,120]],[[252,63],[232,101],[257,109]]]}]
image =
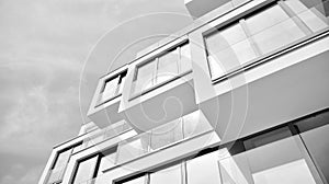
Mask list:
[{"label": "bright pale reflection in the bottom-right window glass", "polygon": [[254,184],[316,184],[304,159],[252,174]]}]

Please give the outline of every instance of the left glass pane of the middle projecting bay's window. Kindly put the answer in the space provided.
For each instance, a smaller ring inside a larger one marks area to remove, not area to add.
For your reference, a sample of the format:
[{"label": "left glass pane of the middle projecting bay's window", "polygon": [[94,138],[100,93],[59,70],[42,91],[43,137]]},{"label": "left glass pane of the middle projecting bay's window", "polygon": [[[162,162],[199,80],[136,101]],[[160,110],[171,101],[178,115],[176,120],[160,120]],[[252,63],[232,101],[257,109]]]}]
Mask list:
[{"label": "left glass pane of the middle projecting bay's window", "polygon": [[156,70],[156,60],[152,60],[137,69],[134,92],[143,92],[154,85],[154,73]]}]

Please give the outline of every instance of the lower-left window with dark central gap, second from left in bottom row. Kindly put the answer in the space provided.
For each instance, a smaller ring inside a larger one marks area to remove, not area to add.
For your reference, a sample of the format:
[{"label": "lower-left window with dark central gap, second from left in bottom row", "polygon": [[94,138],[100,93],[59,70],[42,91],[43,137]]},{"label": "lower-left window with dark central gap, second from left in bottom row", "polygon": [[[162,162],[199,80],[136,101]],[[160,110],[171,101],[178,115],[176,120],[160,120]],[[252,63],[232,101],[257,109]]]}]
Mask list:
[{"label": "lower-left window with dark central gap, second from left in bottom row", "polygon": [[111,148],[101,153],[78,161],[72,184],[87,183],[95,180],[97,176],[115,165],[114,158],[116,148]]}]

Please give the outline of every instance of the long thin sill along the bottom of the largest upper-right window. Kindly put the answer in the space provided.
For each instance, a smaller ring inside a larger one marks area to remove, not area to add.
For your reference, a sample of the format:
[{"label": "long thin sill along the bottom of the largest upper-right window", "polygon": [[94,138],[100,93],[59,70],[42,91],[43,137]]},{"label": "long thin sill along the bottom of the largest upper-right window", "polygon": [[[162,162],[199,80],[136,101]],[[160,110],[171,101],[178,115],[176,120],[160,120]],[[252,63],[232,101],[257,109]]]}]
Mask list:
[{"label": "long thin sill along the bottom of the largest upper-right window", "polygon": [[306,36],[304,38],[300,38],[298,41],[295,41],[295,42],[293,42],[293,43],[291,43],[291,44],[288,44],[288,45],[286,45],[284,47],[277,48],[277,49],[275,49],[275,50],[273,50],[273,51],[271,51],[269,54],[262,55],[262,56],[260,56],[260,57],[258,57],[258,58],[256,58],[256,59],[253,59],[251,61],[248,61],[248,62],[241,65],[240,67],[231,69],[226,74],[224,74],[224,76],[222,76],[219,78],[213,79],[212,83],[214,85],[214,84],[217,84],[219,82],[223,82],[224,80],[227,80],[227,79],[229,79],[231,77],[235,77],[237,74],[240,74],[240,73],[242,73],[242,72],[245,72],[247,70],[250,70],[250,69],[256,68],[256,67],[258,67],[260,65],[263,65],[263,64],[265,64],[268,61],[271,61],[272,59],[274,59],[276,57],[280,57],[280,56],[284,55],[284,54],[287,54],[287,53],[290,53],[290,51],[292,51],[294,49],[297,49],[297,48],[299,48],[302,46],[305,46],[305,45],[307,45],[309,43],[313,43],[313,42],[315,42],[315,41],[317,41],[319,38],[322,38],[322,37],[325,37],[327,35],[329,35],[329,27],[327,27],[327,28],[325,28],[322,31],[319,31],[317,33],[314,33],[311,35],[308,35],[308,36]]}]

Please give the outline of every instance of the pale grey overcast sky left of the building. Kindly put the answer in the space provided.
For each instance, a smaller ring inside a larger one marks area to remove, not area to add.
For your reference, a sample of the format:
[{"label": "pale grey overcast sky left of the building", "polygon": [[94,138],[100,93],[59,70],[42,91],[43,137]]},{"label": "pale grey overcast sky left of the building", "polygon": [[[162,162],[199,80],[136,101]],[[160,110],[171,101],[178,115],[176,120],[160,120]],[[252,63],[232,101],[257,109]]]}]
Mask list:
[{"label": "pale grey overcast sky left of the building", "polygon": [[[52,147],[88,120],[97,80],[121,48],[192,22],[163,12],[186,14],[183,0],[0,0],[0,184],[37,183]],[[97,43],[109,51],[88,59]]]}]

